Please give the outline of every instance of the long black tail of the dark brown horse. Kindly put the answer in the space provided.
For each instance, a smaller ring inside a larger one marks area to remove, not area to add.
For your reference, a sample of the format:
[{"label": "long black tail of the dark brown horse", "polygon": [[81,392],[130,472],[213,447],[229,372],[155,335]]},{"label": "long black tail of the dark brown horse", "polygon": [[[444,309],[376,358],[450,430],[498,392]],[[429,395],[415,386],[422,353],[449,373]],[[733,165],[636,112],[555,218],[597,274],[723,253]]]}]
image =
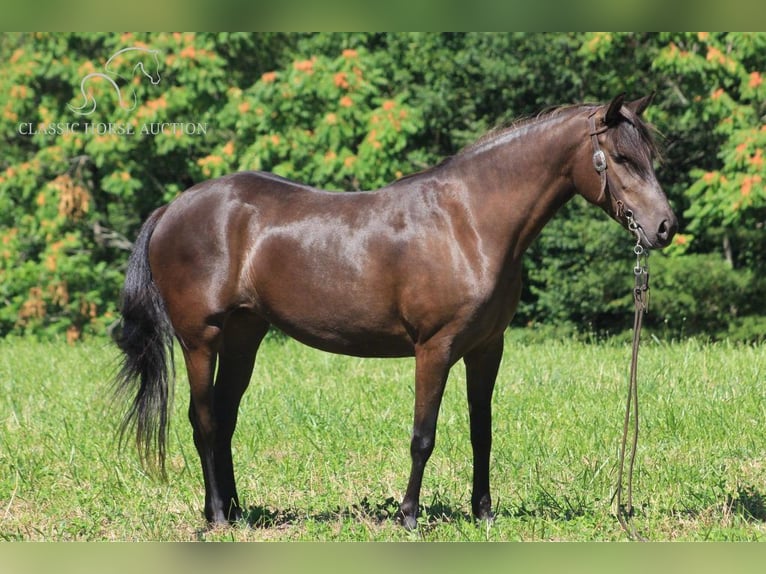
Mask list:
[{"label": "long black tail of the dark brown horse", "polygon": [[138,234],[128,260],[120,302],[121,330],[116,342],[124,353],[116,392],[138,389],[120,427],[120,444],[135,427],[136,445],[145,464],[155,461],[165,472],[168,408],[172,390],[173,328],[149,268],[149,240],[164,207],[154,211]]}]

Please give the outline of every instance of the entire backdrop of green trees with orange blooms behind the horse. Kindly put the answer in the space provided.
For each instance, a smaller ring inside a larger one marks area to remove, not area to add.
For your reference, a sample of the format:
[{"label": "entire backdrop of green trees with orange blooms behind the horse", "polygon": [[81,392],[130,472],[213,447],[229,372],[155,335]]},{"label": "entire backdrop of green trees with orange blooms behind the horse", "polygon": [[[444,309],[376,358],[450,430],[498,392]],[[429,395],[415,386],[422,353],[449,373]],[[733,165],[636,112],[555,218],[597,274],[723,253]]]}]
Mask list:
[{"label": "entire backdrop of green trees with orange blooms behind the horse", "polygon": [[[721,277],[757,293],[764,48],[763,33],[4,34],[0,336],[102,332],[139,225],[202,179],[264,169],[372,189],[496,124],[620,91],[657,91],[658,176],[681,216],[668,253],[725,257],[737,273]],[[521,324],[627,328],[629,248],[599,210],[562,210],[529,253]],[[673,281],[682,298],[715,292]],[[758,337],[762,310],[721,309],[716,333]]]}]

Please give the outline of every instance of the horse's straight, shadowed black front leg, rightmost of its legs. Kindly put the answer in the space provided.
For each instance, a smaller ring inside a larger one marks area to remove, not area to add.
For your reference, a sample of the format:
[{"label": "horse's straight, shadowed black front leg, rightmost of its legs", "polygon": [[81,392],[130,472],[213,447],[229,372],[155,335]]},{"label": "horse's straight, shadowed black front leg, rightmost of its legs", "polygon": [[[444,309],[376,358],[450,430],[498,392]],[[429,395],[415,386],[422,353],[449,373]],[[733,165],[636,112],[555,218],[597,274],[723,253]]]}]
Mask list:
[{"label": "horse's straight, shadowed black front leg, rightmost of its legs", "polygon": [[492,519],[489,454],[492,449],[492,391],[503,356],[502,336],[464,357],[473,448],[471,509],[480,520]]}]

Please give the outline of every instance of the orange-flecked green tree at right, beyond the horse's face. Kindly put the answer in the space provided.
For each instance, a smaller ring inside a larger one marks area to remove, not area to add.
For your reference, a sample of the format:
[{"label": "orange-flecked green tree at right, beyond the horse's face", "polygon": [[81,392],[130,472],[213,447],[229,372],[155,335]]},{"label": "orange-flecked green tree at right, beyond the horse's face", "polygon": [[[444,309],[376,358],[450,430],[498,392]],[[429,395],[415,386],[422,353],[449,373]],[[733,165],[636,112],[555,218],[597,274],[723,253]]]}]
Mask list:
[{"label": "orange-flecked green tree at right, beyond the horse's face", "polygon": [[[654,62],[672,72],[690,99],[682,118],[712,128],[715,164],[690,171],[695,179],[685,215],[691,233],[723,226],[736,230],[766,215],[766,34],[671,34]],[[696,120],[696,121],[695,121]],[[708,137],[710,134],[707,134]]]}]

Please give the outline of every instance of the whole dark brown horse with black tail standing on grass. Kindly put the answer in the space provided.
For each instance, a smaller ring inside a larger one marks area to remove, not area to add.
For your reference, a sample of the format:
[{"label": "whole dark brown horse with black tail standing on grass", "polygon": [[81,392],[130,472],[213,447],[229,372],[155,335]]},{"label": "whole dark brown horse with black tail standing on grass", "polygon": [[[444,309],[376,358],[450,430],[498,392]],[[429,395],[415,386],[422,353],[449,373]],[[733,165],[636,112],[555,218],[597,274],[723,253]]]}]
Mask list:
[{"label": "whole dark brown horse with black tail standing on grass", "polygon": [[675,233],[640,118],[649,101],[619,96],[559,108],[374,192],[329,193],[245,172],[160,207],[136,240],[125,279],[118,380],[138,388],[123,430],[135,423],[143,455],[164,461],[177,338],[205,516],[234,521],[242,513],[231,438],[271,325],[333,353],[414,356],[412,469],[400,510],[413,528],[447,374],[462,358],[471,504],[488,518],[490,401],[524,251],[575,193],[623,225],[632,216],[647,248],[666,246]]}]

